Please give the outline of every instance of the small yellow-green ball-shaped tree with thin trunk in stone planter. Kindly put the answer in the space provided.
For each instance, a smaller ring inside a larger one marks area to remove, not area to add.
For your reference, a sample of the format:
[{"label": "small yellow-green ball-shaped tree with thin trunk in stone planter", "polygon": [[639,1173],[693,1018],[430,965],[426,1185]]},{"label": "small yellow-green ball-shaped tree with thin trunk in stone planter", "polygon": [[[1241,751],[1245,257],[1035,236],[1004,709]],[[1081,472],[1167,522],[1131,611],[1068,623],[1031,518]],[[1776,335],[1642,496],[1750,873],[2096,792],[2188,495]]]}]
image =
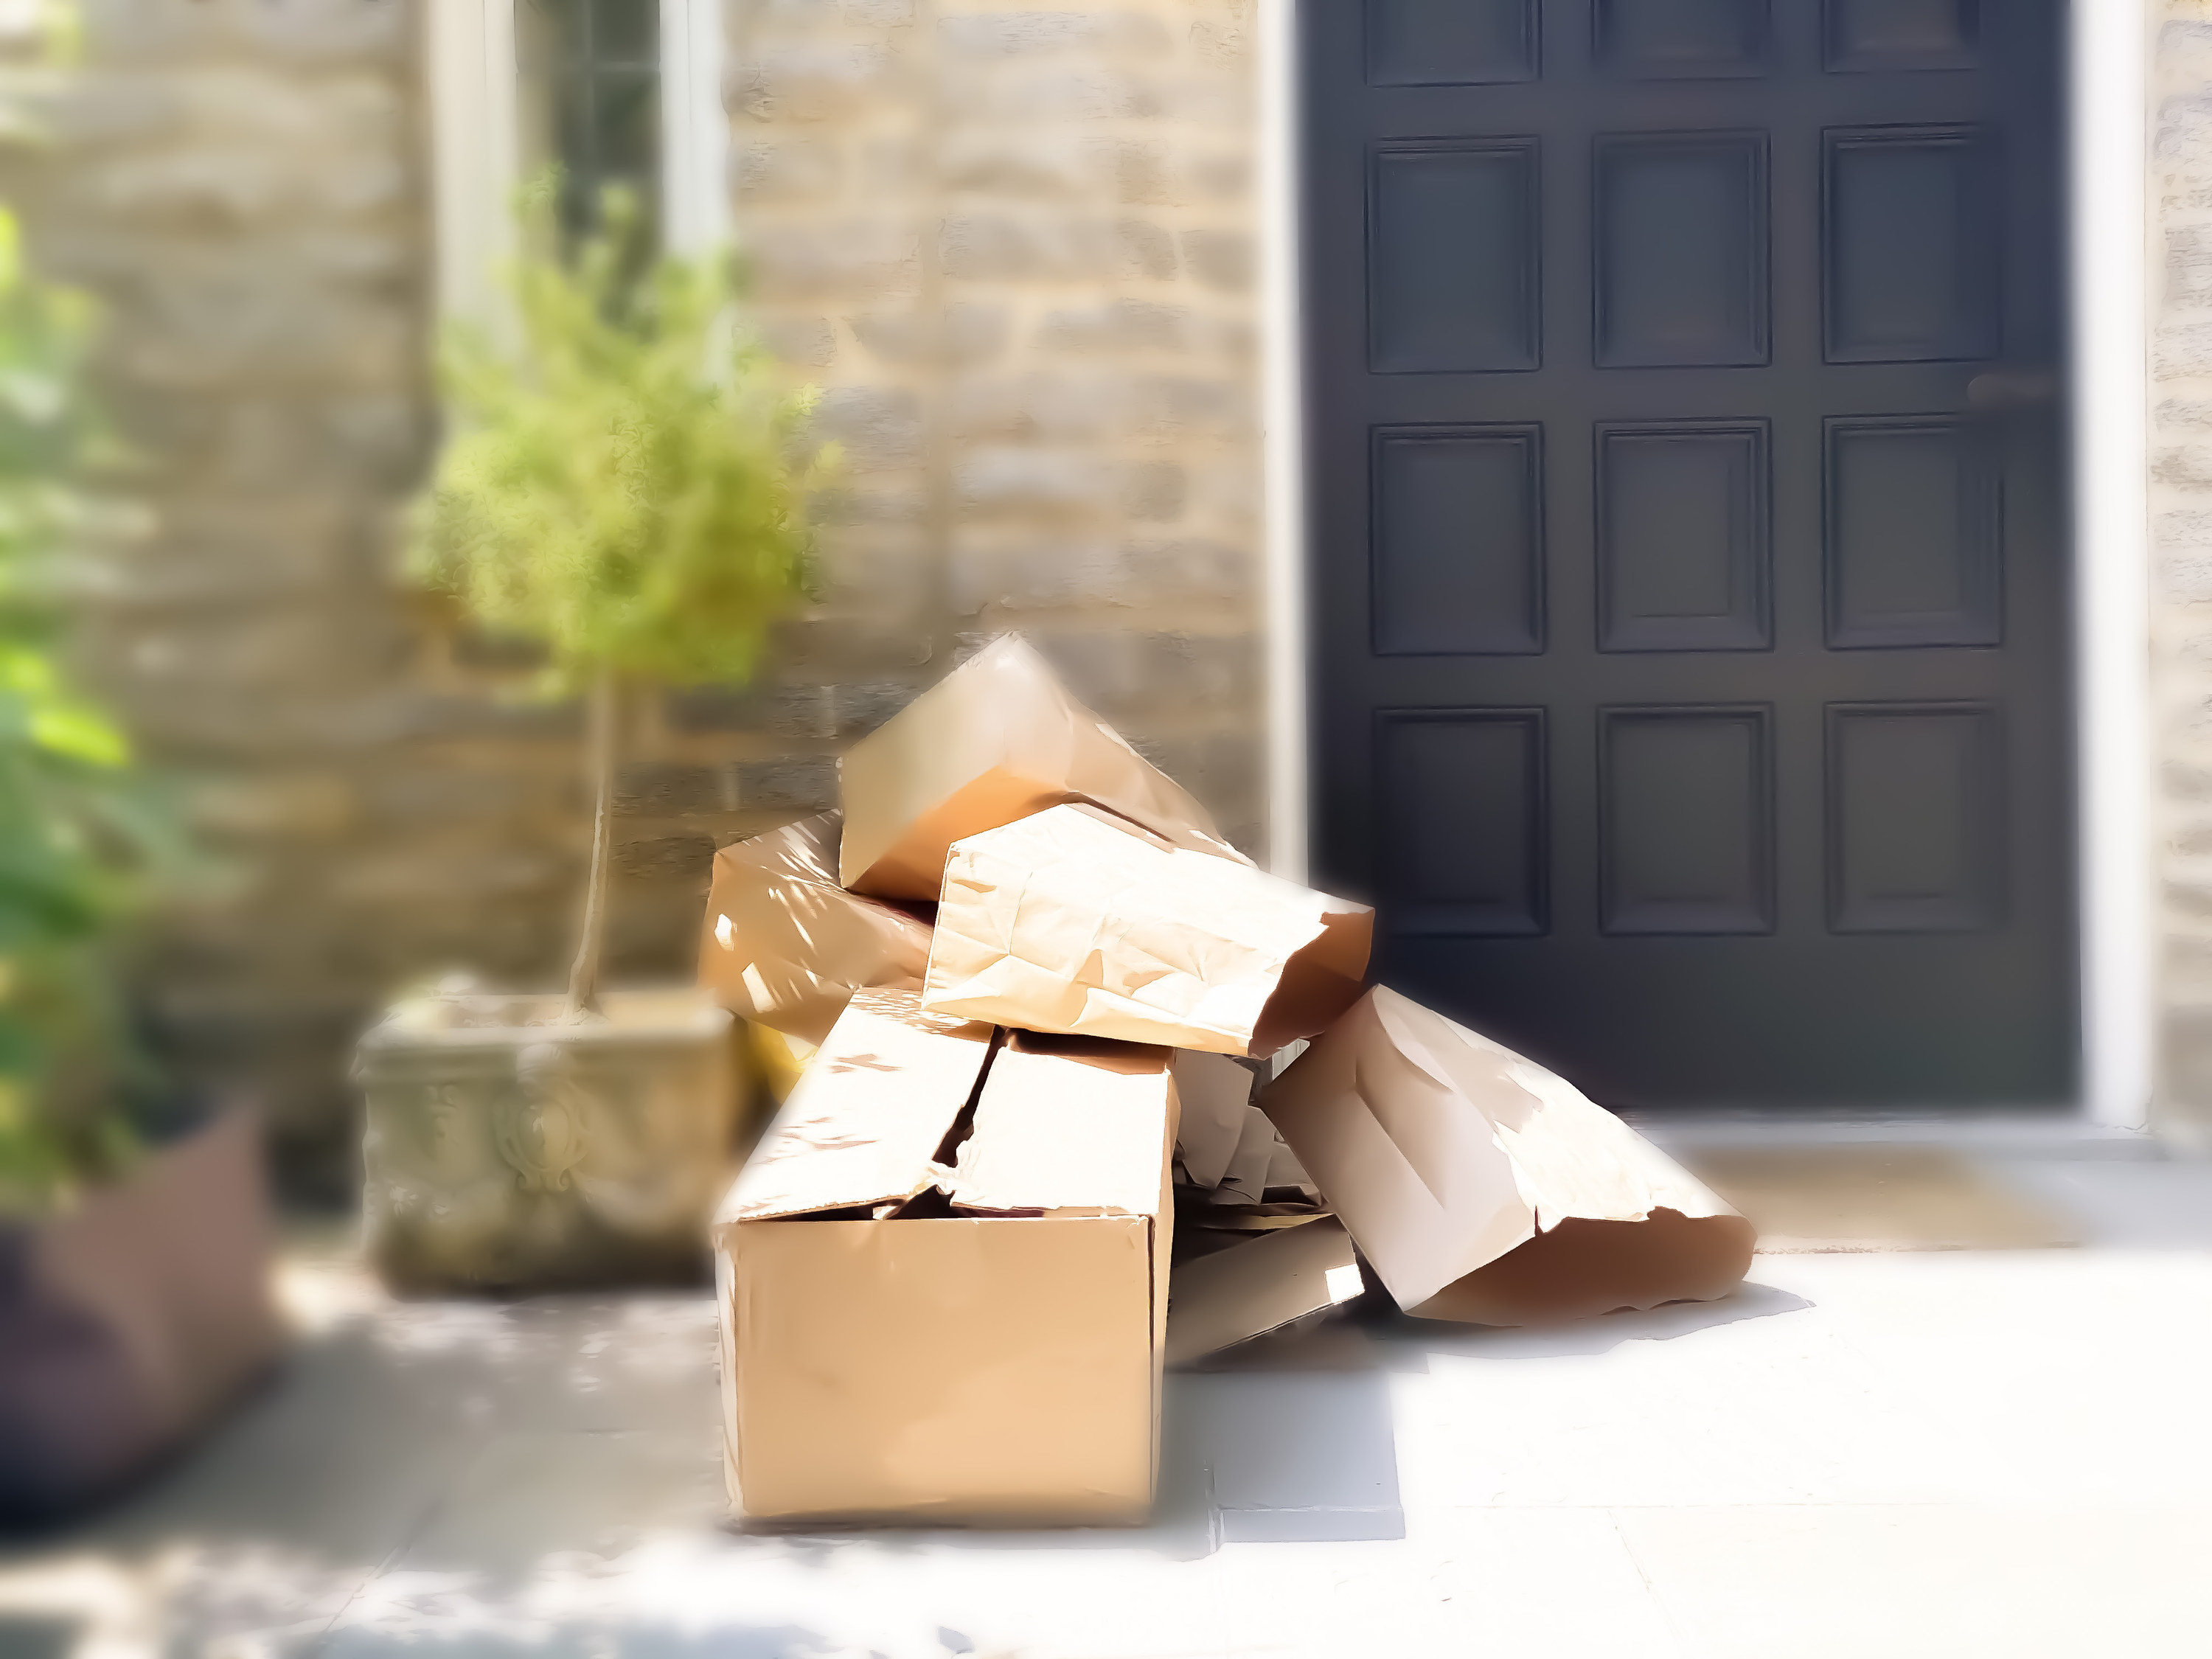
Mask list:
[{"label": "small yellow-green ball-shaped tree with thin trunk in stone planter", "polygon": [[[538,186],[526,219],[553,188]],[[799,458],[810,392],[781,387],[737,330],[728,261],[641,259],[611,190],[568,259],[513,276],[511,349],[456,327],[440,354],[456,429],[416,520],[414,568],[489,630],[546,648],[544,695],[584,692],[595,796],[568,1018],[597,1006],[608,818],[626,688],[748,681],[807,591]]]}]

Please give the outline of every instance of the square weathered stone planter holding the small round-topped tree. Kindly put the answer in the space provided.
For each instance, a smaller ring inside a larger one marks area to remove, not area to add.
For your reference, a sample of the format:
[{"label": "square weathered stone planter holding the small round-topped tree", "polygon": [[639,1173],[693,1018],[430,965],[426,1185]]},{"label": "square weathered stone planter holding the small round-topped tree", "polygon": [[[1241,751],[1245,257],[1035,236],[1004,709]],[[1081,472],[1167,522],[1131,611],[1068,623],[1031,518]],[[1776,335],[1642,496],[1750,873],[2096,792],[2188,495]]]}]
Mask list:
[{"label": "square weathered stone planter holding the small round-topped tree", "polygon": [[611,991],[403,1002],[354,1060],[367,1095],[363,1225],[396,1290],[695,1279],[730,1179],[730,1013]]}]

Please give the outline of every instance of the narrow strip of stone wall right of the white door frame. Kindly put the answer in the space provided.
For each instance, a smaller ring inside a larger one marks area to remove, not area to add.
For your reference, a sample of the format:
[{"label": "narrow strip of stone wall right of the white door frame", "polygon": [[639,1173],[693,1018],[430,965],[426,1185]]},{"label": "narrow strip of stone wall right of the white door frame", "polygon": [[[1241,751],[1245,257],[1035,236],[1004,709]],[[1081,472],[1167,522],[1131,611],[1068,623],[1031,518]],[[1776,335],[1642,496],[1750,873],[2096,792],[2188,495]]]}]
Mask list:
[{"label": "narrow strip of stone wall right of the white door frame", "polygon": [[2159,1124],[2212,1135],[2212,4],[2161,0],[2152,55],[2150,515],[2157,553]]}]

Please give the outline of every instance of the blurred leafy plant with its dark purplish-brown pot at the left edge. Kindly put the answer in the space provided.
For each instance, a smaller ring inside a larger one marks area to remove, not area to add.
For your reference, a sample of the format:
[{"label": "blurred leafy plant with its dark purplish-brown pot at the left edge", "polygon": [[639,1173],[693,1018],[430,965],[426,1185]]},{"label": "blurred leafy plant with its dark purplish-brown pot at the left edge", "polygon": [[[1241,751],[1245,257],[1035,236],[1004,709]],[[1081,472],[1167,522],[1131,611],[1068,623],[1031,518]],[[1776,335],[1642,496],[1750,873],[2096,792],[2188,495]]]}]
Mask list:
[{"label": "blurred leafy plant with its dark purplish-brown pot at the left edge", "polygon": [[181,1444],[276,1352],[246,1115],[179,1106],[117,949],[186,863],[62,666],[69,582],[117,526],[84,396],[91,312],[0,210],[0,1515],[71,1509]]}]

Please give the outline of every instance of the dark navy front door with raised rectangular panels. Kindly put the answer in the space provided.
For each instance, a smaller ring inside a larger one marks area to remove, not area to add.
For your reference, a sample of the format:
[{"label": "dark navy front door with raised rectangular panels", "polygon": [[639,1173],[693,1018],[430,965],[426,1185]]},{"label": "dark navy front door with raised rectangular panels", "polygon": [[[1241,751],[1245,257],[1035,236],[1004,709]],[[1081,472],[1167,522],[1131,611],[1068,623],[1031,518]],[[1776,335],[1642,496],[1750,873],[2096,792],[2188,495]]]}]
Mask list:
[{"label": "dark navy front door with raised rectangular panels", "polygon": [[1301,18],[1383,973],[1615,1106],[2073,1099],[2055,0]]}]

